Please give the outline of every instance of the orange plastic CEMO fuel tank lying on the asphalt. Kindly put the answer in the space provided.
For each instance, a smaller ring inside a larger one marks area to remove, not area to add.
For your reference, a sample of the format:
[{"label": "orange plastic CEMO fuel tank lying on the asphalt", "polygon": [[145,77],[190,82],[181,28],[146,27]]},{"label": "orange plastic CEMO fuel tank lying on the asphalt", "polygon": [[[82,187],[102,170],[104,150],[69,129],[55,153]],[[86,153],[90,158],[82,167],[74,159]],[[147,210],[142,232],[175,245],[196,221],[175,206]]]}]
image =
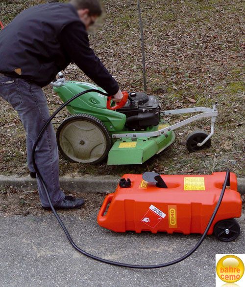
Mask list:
[{"label": "orange plastic CEMO fuel tank lying on the asphalt", "polygon": [[[98,224],[116,232],[134,230],[137,233],[164,231],[203,234],[219,200],[225,173],[160,177],[167,188],[145,181],[142,175],[124,175],[122,178],[129,178],[131,186],[118,185],[116,192],[105,198],[98,213]],[[242,200],[237,192],[237,178],[230,173],[230,189],[225,190],[208,234],[213,233],[216,222],[239,218],[241,212]]]}]

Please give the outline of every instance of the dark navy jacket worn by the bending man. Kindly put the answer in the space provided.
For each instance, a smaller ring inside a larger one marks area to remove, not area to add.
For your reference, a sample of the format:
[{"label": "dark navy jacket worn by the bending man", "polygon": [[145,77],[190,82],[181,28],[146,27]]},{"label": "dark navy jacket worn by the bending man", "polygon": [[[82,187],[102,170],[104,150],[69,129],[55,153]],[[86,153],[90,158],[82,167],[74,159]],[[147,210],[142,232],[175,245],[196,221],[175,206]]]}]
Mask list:
[{"label": "dark navy jacket worn by the bending man", "polygon": [[30,7],[0,32],[0,72],[40,87],[72,61],[109,94],[119,87],[89,46],[85,25],[72,4]]}]

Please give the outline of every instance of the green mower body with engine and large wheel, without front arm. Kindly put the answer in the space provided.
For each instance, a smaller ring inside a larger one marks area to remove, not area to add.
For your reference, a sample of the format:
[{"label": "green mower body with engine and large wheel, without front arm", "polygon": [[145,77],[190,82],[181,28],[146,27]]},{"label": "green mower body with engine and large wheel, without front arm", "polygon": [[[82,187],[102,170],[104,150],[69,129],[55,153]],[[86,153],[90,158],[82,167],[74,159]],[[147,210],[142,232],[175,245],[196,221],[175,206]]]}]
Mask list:
[{"label": "green mower body with engine and large wheel, without front arm", "polygon": [[[63,102],[88,89],[104,92],[93,84],[74,81],[53,89]],[[72,116],[65,119],[57,131],[61,154],[72,162],[98,163],[108,156],[108,165],[142,164],[170,146],[175,138],[173,131],[151,137],[141,136],[142,132],[156,132],[170,126],[160,119],[158,100],[144,93],[131,94],[136,99],[135,107],[130,108],[127,102],[125,108],[119,110],[106,109],[107,97],[97,92],[89,92],[73,100],[67,106]],[[140,114],[137,109],[141,110]],[[137,115],[132,116],[132,110]],[[122,134],[122,137],[114,138],[115,133]]]}]

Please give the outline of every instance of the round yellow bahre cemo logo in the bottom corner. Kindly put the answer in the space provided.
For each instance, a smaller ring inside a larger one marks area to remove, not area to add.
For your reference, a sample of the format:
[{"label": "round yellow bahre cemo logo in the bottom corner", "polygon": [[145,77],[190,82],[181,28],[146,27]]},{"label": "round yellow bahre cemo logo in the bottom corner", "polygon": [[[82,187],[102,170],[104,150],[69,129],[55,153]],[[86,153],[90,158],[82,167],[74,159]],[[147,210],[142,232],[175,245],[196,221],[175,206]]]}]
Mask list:
[{"label": "round yellow bahre cemo logo in the bottom corner", "polygon": [[217,263],[216,272],[224,282],[237,282],[244,275],[244,263],[235,255],[226,255]]}]

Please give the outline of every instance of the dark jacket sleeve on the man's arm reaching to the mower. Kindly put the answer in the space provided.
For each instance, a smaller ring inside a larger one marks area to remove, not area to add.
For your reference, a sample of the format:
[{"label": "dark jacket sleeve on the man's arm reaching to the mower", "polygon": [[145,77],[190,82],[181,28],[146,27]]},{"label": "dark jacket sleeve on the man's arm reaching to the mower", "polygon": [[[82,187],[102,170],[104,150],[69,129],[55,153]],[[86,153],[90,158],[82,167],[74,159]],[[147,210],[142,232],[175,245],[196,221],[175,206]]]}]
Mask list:
[{"label": "dark jacket sleeve on the man's arm reaching to the mower", "polygon": [[73,22],[63,28],[59,41],[69,58],[99,87],[109,95],[118,92],[117,81],[90,48],[88,34],[82,22]]}]

